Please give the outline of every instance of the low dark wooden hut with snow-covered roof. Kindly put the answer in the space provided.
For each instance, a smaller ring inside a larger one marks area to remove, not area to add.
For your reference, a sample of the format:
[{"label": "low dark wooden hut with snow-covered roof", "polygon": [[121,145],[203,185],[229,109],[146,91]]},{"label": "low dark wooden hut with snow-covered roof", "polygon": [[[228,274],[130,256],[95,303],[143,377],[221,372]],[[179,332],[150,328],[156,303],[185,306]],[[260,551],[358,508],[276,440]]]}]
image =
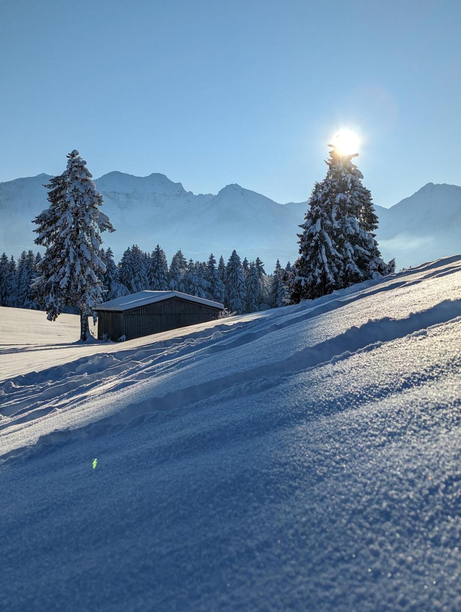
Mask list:
[{"label": "low dark wooden hut with snow-covered roof", "polygon": [[217,319],[223,304],[179,291],[139,291],[99,305],[99,340],[126,340]]}]

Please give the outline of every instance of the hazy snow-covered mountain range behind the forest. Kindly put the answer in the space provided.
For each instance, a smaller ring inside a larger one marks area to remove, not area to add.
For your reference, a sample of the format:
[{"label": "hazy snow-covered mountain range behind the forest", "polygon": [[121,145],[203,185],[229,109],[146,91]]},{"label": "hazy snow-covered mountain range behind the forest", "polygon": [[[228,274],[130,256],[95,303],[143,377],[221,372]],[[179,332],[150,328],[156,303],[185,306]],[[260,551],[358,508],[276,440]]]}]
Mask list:
[{"label": "hazy snow-covered mountain range behind the forest", "polygon": [[[0,183],[0,252],[19,255],[33,248],[31,223],[47,207],[42,185],[50,175]],[[297,231],[306,203],[279,204],[260,193],[230,184],[217,195],[195,195],[164,174],[132,176],[110,172],[96,179],[104,195],[104,212],[116,233],[104,236],[116,258],[131,244],[152,250],[159,242],[171,258],[178,248],[187,257],[205,259],[210,252],[229,257],[259,255],[268,271],[297,255]],[[397,267],[414,266],[461,250],[461,187],[428,183],[389,209],[376,206],[378,240],[383,256]]]}]

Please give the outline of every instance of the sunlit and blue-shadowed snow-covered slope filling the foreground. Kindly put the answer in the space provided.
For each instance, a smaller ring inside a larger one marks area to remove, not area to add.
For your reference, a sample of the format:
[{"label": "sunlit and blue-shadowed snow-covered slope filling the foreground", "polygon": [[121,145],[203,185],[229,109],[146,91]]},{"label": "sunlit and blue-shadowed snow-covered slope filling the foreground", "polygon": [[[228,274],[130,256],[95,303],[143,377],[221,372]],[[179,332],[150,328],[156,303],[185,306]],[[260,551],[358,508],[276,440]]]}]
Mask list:
[{"label": "sunlit and blue-shadowed snow-covered slope filling the foreground", "polygon": [[0,332],[2,610],[461,610],[461,256],[121,344]]}]

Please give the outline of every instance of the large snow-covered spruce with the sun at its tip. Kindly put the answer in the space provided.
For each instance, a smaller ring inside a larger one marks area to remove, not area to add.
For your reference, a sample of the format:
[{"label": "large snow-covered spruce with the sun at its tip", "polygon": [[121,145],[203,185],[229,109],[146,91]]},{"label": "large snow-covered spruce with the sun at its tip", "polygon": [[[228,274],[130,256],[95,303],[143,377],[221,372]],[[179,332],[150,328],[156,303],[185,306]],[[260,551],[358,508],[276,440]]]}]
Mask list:
[{"label": "large snow-covered spruce with the sun at its tip", "polygon": [[340,155],[333,147],[327,174],[316,184],[310,209],[298,234],[300,256],[288,282],[290,303],[314,298],[386,272],[374,234],[377,217],[356,154]]}]

